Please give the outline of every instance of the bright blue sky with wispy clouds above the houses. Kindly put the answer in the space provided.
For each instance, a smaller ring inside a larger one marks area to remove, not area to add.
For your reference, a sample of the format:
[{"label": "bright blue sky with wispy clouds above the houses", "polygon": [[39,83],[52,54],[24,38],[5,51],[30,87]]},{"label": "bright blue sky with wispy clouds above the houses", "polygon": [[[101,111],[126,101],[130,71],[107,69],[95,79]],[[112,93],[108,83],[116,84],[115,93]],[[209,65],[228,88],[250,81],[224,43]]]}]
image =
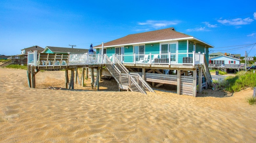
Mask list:
[{"label": "bright blue sky with wispy clouds above the houses", "polygon": [[215,48],[256,54],[256,1],[0,1],[0,54],[38,45],[89,49],[128,34],[174,27]]}]

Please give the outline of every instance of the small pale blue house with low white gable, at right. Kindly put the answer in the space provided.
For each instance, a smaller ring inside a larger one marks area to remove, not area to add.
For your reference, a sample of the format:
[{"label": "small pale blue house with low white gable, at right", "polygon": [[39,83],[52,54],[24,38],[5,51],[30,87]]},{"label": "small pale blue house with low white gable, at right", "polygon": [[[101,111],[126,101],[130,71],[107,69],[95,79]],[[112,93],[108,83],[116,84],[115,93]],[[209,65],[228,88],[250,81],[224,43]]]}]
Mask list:
[{"label": "small pale blue house with low white gable, at right", "polygon": [[211,64],[240,64],[241,59],[237,59],[230,56],[220,55],[209,58]]}]

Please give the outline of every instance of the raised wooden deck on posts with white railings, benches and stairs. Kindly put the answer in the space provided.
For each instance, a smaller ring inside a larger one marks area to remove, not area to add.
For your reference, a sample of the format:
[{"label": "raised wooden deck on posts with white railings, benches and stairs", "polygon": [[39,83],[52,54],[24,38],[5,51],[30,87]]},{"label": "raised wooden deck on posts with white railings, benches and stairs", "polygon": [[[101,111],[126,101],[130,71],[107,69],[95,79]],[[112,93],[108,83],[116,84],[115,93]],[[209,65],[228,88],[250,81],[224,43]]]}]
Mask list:
[{"label": "raised wooden deck on posts with white railings, benches and stairs", "polygon": [[[198,88],[198,92],[201,92],[202,87],[207,88],[211,83],[211,76],[204,54],[195,52],[181,54],[168,53],[162,55],[149,54],[148,56],[152,58],[142,58],[139,60],[139,57],[142,56],[146,57],[147,55],[113,55],[110,60],[106,55],[99,54],[37,54],[37,51],[33,53],[28,52],[28,80],[31,80],[31,82],[29,81],[31,84],[29,87],[35,87],[35,74],[38,71],[65,69],[66,75],[68,70],[71,70],[72,73],[70,81],[69,78],[66,77],[66,88],[69,87],[73,89],[73,74],[74,71],[77,71],[77,68],[91,68],[91,71],[96,68],[100,70],[97,71],[98,78],[100,78],[101,75],[111,75],[115,77],[119,83],[119,88],[141,93],[146,93],[145,91],[151,90],[151,87],[147,84],[147,82],[150,82],[153,87],[159,87],[163,84],[176,85],[177,94],[196,96],[197,84],[200,87]],[[165,57],[165,59],[159,57]],[[169,57],[175,57],[175,59]],[[181,60],[182,57],[183,60]],[[189,60],[184,60],[187,58]],[[101,70],[103,70],[103,72],[101,72]],[[175,74],[170,74],[167,71],[175,71]],[[133,73],[135,73],[135,75]],[[94,79],[94,74],[91,74],[91,76]],[[84,78],[84,75],[82,78]],[[202,78],[206,80],[202,80]],[[96,87],[98,81],[92,81],[92,84]]]}]

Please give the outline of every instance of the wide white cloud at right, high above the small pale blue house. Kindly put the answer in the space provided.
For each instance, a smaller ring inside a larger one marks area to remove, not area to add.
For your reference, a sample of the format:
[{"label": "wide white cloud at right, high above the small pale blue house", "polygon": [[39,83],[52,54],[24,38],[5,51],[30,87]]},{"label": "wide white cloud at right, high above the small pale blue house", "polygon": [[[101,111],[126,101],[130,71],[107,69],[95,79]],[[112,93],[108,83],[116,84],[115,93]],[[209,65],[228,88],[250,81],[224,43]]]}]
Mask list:
[{"label": "wide white cloud at right, high above the small pale blue house", "polygon": [[247,25],[247,24],[251,24],[251,22],[253,22],[253,19],[250,19],[249,17],[242,19],[242,18],[236,18],[236,19],[224,19],[224,20],[217,20],[219,23],[221,24],[225,24],[225,25]]}]

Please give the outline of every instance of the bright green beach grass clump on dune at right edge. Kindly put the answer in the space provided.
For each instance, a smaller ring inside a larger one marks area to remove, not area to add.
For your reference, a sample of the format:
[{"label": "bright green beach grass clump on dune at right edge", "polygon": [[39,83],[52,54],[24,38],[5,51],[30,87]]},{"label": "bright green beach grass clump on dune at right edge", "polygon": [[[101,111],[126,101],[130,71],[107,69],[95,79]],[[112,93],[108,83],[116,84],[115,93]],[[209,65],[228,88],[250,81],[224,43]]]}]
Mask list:
[{"label": "bright green beach grass clump on dune at right edge", "polygon": [[248,87],[256,87],[256,74],[252,71],[239,72],[236,76],[228,77],[226,80],[229,83],[226,90],[229,92],[238,92]]}]

